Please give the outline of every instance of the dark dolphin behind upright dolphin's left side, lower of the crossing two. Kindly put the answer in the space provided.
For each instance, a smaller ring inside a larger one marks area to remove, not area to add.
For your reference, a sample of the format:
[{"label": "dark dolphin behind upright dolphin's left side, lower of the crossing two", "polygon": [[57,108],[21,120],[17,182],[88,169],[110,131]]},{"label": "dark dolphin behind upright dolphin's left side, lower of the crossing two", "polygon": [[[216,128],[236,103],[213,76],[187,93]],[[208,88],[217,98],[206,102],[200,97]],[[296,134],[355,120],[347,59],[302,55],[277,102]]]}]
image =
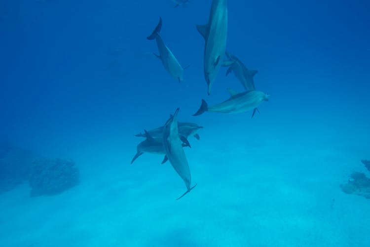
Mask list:
[{"label": "dark dolphin behind upright dolphin's left side, lower of the crossing two", "polygon": [[[144,153],[151,153],[151,154],[164,154],[165,155],[165,151],[164,151],[164,147],[163,147],[163,139],[162,137],[160,138],[153,138],[147,130],[144,130],[145,132],[145,136],[147,137],[146,140],[142,141],[141,143],[139,143],[139,145],[137,146],[136,150],[136,155],[134,156],[134,158],[132,159],[131,161],[131,164],[134,163],[134,161],[139,157],[141,156],[142,154]],[[186,141],[187,142],[187,141]],[[183,142],[183,146],[186,147],[186,146],[190,146],[190,145],[187,145],[186,142]],[[187,142],[188,143],[188,142]],[[164,156],[164,159],[162,161],[162,164],[164,164],[166,161],[167,161],[167,157]]]}]

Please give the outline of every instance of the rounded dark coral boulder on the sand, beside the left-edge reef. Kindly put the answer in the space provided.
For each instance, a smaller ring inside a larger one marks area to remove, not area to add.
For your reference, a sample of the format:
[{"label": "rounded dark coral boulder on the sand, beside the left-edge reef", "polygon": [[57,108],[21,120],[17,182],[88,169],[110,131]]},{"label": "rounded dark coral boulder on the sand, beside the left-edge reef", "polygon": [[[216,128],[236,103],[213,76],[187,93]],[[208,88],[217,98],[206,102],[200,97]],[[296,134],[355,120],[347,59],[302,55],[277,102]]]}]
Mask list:
[{"label": "rounded dark coral boulder on the sand, beside the left-edge reef", "polygon": [[79,171],[72,160],[38,160],[30,176],[31,196],[53,196],[79,182]]}]

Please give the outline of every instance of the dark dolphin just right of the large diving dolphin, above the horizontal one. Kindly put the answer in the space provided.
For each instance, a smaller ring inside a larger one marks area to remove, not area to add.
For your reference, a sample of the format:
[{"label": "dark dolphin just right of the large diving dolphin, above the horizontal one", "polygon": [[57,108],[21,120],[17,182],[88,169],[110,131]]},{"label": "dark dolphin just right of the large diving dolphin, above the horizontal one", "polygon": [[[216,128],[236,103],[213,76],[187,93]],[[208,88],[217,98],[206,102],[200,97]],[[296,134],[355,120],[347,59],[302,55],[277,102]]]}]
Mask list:
[{"label": "dark dolphin just right of the large diving dolphin, above the horizontal one", "polygon": [[229,59],[222,66],[228,66],[226,76],[234,72],[236,78],[242,83],[246,91],[256,90],[255,82],[253,77],[258,73],[257,70],[248,70],[247,67],[234,55],[231,55],[227,51],[225,52],[226,57]]}]

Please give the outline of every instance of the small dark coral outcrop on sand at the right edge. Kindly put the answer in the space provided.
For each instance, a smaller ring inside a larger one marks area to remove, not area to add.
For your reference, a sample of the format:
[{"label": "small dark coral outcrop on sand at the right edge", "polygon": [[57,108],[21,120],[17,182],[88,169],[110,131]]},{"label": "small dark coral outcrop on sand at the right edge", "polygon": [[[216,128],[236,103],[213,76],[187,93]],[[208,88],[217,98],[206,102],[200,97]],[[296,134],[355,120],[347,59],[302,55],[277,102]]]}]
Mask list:
[{"label": "small dark coral outcrop on sand at the right edge", "polygon": [[[367,161],[362,163],[369,169],[370,164]],[[370,178],[363,172],[353,172],[347,183],[341,184],[340,188],[346,194],[354,194],[370,199]]]}]

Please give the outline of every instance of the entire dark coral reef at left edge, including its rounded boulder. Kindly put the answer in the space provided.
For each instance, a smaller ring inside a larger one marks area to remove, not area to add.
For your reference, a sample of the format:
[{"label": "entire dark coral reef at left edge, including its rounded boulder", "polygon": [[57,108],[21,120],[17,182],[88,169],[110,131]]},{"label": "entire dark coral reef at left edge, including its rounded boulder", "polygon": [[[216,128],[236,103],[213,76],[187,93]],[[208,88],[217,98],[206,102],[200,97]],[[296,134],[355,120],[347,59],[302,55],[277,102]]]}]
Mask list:
[{"label": "entire dark coral reef at left edge, including its rounded boulder", "polygon": [[0,194],[29,182],[31,196],[56,195],[79,182],[73,161],[48,160],[0,142]]}]

